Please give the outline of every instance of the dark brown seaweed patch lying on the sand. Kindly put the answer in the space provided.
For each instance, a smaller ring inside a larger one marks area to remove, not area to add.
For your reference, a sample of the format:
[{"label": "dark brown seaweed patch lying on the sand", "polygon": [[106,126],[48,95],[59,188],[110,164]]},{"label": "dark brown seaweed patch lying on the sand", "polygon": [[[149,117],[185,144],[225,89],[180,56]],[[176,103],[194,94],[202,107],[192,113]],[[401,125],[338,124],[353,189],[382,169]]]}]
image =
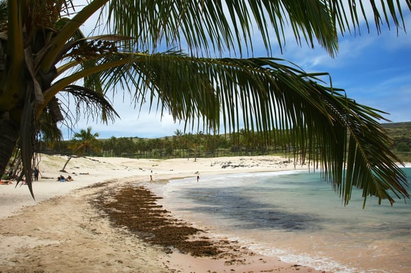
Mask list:
[{"label": "dark brown seaweed patch lying on the sand", "polygon": [[126,228],[145,242],[163,247],[166,252],[177,249],[197,257],[216,257],[222,252],[210,238],[199,236],[203,232],[201,229],[173,219],[170,211],[156,203],[159,198],[142,186],[116,190],[111,187],[110,194],[99,194],[95,205],[103,211],[103,216],[108,216],[112,226]]}]

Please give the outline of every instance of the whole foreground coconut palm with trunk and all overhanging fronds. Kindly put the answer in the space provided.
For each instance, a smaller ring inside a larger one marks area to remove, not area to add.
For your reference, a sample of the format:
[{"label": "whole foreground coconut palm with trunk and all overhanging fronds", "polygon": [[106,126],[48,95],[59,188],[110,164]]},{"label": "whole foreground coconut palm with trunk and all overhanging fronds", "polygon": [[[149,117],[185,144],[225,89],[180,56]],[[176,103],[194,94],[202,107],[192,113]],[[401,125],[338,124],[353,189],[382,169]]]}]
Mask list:
[{"label": "whole foreground coconut palm with trunk and all overhanging fronds", "polygon": [[[282,49],[286,25],[297,42],[318,42],[330,55],[338,51],[338,33],[357,31],[362,17],[368,27],[369,13],[377,31],[383,23],[405,29],[399,1],[382,0],[382,9],[373,0],[348,3],[7,1],[0,27],[0,171],[18,147],[23,172],[31,177],[36,120],[45,112],[55,121],[68,116],[58,96],[107,122],[116,112],[106,95],[116,88],[136,106],[148,102],[190,126],[201,121],[216,129],[222,121],[238,131],[243,123],[267,139],[273,129],[284,132],[302,161],[321,161],[345,203],[353,187],[363,190],[364,202],[371,195],[391,203],[408,197],[405,174],[378,122],[383,113],[323,81],[327,73],[306,73],[271,57],[273,43]],[[404,6],[411,10],[410,0]],[[103,25],[95,31],[102,31],[84,36],[79,28],[95,12],[97,26]],[[255,36],[268,57],[220,57],[252,53]]]}]

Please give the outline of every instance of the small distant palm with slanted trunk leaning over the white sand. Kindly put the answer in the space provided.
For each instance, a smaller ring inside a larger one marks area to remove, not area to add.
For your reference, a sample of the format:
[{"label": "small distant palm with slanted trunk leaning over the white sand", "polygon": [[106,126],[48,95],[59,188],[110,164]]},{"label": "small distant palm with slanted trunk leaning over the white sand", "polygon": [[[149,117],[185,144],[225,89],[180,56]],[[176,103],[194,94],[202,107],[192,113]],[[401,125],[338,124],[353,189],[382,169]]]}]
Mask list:
[{"label": "small distant palm with slanted trunk leaning over the white sand", "polygon": [[[71,144],[69,148],[71,148],[73,153],[79,156],[88,154],[90,151],[97,151],[100,148],[99,140],[97,140],[98,137],[99,133],[91,133],[91,127],[88,127],[87,131],[81,129],[79,133],[74,134],[73,144]],[[71,158],[72,156],[67,159],[66,164],[64,164],[62,170],[60,170],[61,172],[64,172]]]}]

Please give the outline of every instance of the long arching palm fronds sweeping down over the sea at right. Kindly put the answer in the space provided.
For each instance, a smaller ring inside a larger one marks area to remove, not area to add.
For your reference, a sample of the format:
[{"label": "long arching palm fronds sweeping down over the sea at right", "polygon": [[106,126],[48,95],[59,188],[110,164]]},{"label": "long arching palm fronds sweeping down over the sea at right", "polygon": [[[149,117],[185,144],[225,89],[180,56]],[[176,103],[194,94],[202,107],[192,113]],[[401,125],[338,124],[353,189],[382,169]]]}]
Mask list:
[{"label": "long arching palm fronds sweeping down over the sea at right", "polygon": [[362,189],[364,201],[377,196],[393,203],[390,192],[408,198],[399,159],[377,122],[383,113],[324,86],[323,76],[329,77],[275,58],[194,58],[170,51],[136,55],[132,64],[102,73],[109,86],[132,83],[136,103],[171,109],[179,120],[201,116],[215,128],[222,116],[230,130],[276,130],[298,149],[301,163],[321,164],[346,204],[353,187]]}]

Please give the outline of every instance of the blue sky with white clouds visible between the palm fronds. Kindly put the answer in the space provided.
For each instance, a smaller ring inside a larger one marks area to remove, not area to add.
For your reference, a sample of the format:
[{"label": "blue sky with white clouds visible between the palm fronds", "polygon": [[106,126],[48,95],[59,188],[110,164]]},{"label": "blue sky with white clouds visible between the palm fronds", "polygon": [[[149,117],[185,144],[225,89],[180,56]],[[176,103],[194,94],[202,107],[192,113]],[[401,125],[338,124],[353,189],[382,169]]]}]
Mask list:
[{"label": "blue sky with white clouds visible between the palm fronds", "polygon": [[[345,89],[347,96],[360,104],[387,112],[383,116],[392,122],[411,121],[411,12],[404,10],[407,33],[400,29],[397,34],[395,28],[388,30],[384,26],[378,35],[371,23],[370,33],[363,27],[360,35],[340,37],[334,58],[319,46],[314,49],[306,44],[299,46],[290,37],[283,54],[278,52],[274,57],[293,62],[308,73],[329,73],[334,87]],[[254,49],[254,57],[266,56],[258,42]],[[175,135],[177,129],[184,131],[184,123],[149,112],[147,108],[138,112],[133,105],[123,102],[123,96],[114,97],[113,102],[120,116],[114,123],[105,125],[98,120],[82,119],[73,131],[92,127],[92,133],[99,133],[99,138],[160,138]],[[64,140],[72,138],[73,131],[61,129]]]}]

